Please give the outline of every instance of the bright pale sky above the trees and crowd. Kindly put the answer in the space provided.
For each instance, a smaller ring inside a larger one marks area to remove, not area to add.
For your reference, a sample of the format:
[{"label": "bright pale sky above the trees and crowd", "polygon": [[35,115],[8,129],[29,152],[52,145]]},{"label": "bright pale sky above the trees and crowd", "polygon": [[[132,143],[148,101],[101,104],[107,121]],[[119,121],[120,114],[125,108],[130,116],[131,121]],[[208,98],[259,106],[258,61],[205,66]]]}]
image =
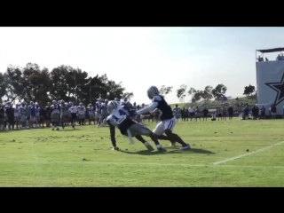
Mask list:
[{"label": "bright pale sky above the trees and crowd", "polygon": [[173,86],[169,103],[178,102],[181,84],[224,83],[236,97],[256,85],[256,49],[284,47],[283,39],[284,28],[0,28],[0,68],[32,62],[106,73],[138,103],[149,103],[147,88],[162,84]]}]

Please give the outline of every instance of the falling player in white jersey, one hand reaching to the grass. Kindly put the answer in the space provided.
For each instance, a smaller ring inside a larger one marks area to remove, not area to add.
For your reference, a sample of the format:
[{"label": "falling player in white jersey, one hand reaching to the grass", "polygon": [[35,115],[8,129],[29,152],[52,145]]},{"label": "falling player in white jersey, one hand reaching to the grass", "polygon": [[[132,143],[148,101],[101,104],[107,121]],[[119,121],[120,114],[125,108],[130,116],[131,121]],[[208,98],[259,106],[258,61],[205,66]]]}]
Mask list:
[{"label": "falling player in white jersey, one hand reaching to the grass", "polygon": [[154,137],[154,134],[151,130],[146,128],[146,126],[143,126],[142,124],[134,122],[130,119],[130,111],[124,108],[124,106],[119,106],[118,103],[113,100],[108,102],[107,110],[110,115],[106,118],[106,122],[109,125],[110,138],[114,150],[119,150],[119,147],[116,146],[115,128],[119,129],[122,135],[129,137],[130,144],[133,143],[132,137],[135,137],[142,142],[148,150],[152,151],[153,147],[149,145],[141,136],[145,135],[154,141],[154,144],[159,151],[165,150],[160,145],[158,139]]}]

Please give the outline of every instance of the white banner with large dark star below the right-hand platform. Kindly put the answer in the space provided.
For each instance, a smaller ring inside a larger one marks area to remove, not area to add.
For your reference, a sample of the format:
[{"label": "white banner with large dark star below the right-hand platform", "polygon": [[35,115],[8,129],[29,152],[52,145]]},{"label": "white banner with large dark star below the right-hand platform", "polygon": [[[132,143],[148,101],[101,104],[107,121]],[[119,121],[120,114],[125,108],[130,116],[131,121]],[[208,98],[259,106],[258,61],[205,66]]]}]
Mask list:
[{"label": "white banner with large dark star below the right-hand platform", "polygon": [[283,114],[284,60],[256,62],[256,91],[258,107],[264,106],[266,114],[272,104]]}]

